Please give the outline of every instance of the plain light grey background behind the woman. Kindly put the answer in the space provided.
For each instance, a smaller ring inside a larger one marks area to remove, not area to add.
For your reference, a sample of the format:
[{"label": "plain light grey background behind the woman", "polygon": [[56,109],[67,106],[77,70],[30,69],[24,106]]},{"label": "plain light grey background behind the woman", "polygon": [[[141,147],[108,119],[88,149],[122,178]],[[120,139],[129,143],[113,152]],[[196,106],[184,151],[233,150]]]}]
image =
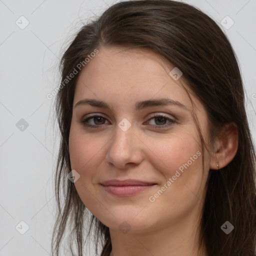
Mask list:
[{"label": "plain light grey background behind the woman", "polygon": [[[50,255],[59,138],[52,122],[53,100],[46,94],[59,84],[57,64],[71,35],[114,2],[0,0],[0,255]],[[256,141],[256,1],[185,2],[220,26],[223,20],[239,60]],[[232,20],[227,15],[234,21],[228,29]],[[27,231],[20,221],[29,226]]]}]

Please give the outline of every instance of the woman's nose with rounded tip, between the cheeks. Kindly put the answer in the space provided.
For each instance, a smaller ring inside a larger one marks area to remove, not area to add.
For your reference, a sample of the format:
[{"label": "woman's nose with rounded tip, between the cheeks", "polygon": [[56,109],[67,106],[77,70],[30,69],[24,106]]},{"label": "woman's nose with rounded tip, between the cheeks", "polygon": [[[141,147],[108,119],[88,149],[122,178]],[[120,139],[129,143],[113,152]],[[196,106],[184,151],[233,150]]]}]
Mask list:
[{"label": "woman's nose with rounded tip, between the cheeks", "polygon": [[114,136],[110,139],[106,153],[106,162],[119,169],[138,165],[143,159],[143,143],[131,127],[123,131],[116,125]]}]

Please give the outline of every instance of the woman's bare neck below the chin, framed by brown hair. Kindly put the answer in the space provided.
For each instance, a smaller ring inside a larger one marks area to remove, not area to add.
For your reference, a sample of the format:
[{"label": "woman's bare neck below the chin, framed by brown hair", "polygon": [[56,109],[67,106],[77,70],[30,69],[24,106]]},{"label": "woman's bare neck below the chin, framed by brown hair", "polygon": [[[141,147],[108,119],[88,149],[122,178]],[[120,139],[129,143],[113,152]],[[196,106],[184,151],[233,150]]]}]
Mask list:
[{"label": "woman's bare neck below the chin, framed by brown hair", "polygon": [[189,218],[144,233],[109,231],[112,243],[110,256],[207,256],[204,244],[199,250],[198,221]]}]

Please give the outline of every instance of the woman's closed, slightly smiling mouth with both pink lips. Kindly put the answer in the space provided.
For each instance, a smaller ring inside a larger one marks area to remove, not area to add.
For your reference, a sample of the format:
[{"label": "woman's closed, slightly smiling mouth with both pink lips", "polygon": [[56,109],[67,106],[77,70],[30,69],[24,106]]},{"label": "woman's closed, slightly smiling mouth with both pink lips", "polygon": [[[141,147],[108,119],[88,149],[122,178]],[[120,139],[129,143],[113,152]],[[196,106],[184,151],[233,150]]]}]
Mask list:
[{"label": "woman's closed, slightly smiling mouth with both pink lips", "polygon": [[100,183],[104,190],[112,195],[117,196],[130,196],[156,186],[155,182],[142,181],[142,180],[117,180],[111,179]]}]

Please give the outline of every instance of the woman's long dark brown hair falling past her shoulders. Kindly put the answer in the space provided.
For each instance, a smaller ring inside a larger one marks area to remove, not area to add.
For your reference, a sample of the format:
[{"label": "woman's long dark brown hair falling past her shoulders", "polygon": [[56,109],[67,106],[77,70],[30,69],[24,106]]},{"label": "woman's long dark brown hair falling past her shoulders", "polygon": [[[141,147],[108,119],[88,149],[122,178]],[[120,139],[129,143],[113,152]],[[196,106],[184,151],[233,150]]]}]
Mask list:
[{"label": "woman's long dark brown hair falling past her shoulders", "polygon": [[[72,255],[82,256],[86,224],[87,237],[94,227],[96,253],[99,241],[103,247],[101,256],[109,256],[111,251],[109,228],[88,212],[74,184],[66,177],[71,170],[68,137],[80,72],[77,64],[84,63],[87,55],[101,46],[150,49],[177,66],[206,109],[212,141],[225,123],[237,125],[238,150],[233,160],[219,170],[209,170],[200,237],[209,256],[255,254],[256,157],[235,53],[220,27],[196,7],[172,0],[129,0],[110,6],[97,19],[84,25],[61,59],[61,82],[65,83],[55,100],[61,141],[55,173],[57,216],[52,255],[59,255],[67,232]],[[85,63],[83,66],[86,68]],[[65,79],[74,68],[78,74],[67,82]],[[196,116],[194,120],[198,127]],[[201,134],[199,129],[198,132]],[[202,136],[200,139],[204,147]],[[226,220],[234,226],[229,234],[220,228]]]}]

